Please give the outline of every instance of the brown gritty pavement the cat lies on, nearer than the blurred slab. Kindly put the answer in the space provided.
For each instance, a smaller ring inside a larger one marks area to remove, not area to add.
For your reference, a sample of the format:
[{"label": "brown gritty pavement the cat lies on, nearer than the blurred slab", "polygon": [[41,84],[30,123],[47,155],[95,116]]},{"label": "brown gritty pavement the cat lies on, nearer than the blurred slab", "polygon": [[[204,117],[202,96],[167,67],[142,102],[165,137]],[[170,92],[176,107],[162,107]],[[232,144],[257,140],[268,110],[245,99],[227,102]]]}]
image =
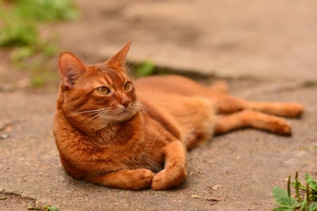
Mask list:
[{"label": "brown gritty pavement the cat lies on, nearer than the blurred slab", "polygon": [[302,102],[306,113],[290,119],[292,137],[246,129],[192,150],[187,181],[170,191],[122,191],[71,178],[51,132],[56,93],[0,92],[0,210],[26,210],[25,200],[35,199],[61,210],[272,210],[273,187],[285,187],[287,176],[317,177],[317,87],[277,89],[254,80],[230,86],[253,100]]}]

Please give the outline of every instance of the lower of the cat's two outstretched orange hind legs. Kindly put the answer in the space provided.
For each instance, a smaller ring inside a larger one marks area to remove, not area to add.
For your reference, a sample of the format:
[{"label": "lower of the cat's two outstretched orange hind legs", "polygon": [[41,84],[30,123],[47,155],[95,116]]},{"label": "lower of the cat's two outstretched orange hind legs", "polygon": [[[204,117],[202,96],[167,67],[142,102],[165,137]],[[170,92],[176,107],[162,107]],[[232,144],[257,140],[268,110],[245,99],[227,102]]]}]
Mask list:
[{"label": "lower of the cat's two outstretched orange hind legs", "polygon": [[215,133],[222,134],[240,128],[258,128],[280,135],[292,135],[290,124],[283,118],[245,109],[229,115],[219,115]]}]

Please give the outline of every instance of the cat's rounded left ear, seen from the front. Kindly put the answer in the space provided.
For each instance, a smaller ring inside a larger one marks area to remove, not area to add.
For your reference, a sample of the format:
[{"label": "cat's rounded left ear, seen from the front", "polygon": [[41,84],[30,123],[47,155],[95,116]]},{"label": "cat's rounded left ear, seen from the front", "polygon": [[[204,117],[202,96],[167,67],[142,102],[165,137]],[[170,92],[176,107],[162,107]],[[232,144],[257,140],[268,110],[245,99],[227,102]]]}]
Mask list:
[{"label": "cat's rounded left ear, seen from the front", "polygon": [[58,69],[63,85],[72,88],[75,80],[85,73],[86,66],[74,54],[62,52],[59,56]]}]

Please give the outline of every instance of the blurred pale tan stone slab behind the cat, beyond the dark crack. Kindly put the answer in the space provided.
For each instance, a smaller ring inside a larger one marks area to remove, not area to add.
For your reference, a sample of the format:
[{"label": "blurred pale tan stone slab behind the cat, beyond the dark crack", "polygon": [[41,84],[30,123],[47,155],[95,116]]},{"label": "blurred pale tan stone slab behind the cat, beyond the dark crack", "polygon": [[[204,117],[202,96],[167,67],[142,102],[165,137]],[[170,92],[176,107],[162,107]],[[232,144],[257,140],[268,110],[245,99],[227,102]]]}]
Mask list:
[{"label": "blurred pale tan stone slab behind the cat, beyond the dark crack", "polygon": [[229,78],[317,80],[317,1],[79,2],[82,20],[54,31],[87,62],[131,40],[133,61]]}]

